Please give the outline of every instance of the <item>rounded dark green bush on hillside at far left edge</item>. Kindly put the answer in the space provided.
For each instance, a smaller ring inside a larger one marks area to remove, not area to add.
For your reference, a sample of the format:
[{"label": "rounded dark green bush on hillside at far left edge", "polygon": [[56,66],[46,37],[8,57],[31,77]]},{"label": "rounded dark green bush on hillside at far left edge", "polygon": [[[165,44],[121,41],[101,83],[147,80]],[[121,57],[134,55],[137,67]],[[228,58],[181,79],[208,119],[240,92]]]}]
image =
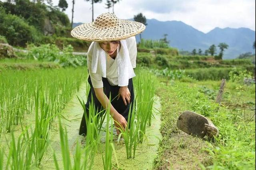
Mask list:
[{"label": "rounded dark green bush on hillside at far left edge", "polygon": [[38,42],[40,33],[34,26],[12,14],[5,14],[0,7],[0,34],[4,35],[10,45],[25,47],[26,43]]}]

